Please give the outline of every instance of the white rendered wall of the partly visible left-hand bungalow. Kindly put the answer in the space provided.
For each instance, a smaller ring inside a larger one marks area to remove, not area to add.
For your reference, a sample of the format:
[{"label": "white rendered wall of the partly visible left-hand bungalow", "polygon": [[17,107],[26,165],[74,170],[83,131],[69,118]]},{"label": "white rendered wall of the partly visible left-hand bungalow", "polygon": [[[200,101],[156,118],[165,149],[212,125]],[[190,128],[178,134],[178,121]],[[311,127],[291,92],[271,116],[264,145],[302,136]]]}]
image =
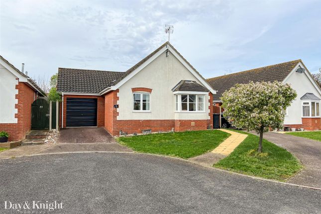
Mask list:
[{"label": "white rendered wall of the partly visible left-hand bungalow", "polygon": [[15,95],[18,90],[15,85],[18,84],[16,77],[0,65],[0,123],[17,123],[14,114],[17,109],[14,107],[18,103]]}]

